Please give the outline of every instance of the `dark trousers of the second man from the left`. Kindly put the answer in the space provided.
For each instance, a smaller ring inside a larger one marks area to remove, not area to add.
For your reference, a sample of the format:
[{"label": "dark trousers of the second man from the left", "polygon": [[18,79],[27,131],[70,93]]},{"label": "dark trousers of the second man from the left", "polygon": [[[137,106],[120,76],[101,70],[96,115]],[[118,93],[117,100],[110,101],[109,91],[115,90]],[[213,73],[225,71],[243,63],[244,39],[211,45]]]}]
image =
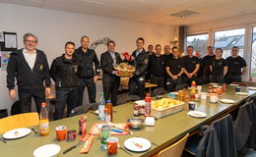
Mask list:
[{"label": "dark trousers of the second man from the left", "polygon": [[71,116],[71,110],[77,107],[79,101],[78,90],[56,90],[56,104],[54,120],[63,118],[64,109],[67,103],[67,117]]}]

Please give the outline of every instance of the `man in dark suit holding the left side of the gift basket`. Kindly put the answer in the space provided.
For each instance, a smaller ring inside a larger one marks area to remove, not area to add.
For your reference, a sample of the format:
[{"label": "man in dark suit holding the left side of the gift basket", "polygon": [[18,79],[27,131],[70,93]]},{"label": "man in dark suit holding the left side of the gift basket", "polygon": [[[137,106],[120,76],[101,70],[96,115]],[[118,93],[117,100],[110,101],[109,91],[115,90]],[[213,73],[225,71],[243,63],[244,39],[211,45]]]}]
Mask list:
[{"label": "man in dark suit holding the left side of the gift basket", "polygon": [[117,91],[120,85],[120,77],[113,66],[122,62],[120,55],[115,52],[115,42],[107,42],[107,51],[101,54],[100,65],[103,71],[102,82],[105,100],[111,98],[111,102],[116,106]]}]

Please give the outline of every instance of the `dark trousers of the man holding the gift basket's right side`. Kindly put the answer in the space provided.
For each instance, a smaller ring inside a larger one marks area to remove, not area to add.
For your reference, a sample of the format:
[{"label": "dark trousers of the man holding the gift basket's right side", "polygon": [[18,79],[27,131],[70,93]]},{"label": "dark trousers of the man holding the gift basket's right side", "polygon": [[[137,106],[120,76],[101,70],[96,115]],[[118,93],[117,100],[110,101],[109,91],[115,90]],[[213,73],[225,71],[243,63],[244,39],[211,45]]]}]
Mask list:
[{"label": "dark trousers of the man holding the gift basket's right side", "polygon": [[129,94],[136,95],[136,85],[138,86],[139,96],[145,96],[145,76],[135,77],[129,79]]}]

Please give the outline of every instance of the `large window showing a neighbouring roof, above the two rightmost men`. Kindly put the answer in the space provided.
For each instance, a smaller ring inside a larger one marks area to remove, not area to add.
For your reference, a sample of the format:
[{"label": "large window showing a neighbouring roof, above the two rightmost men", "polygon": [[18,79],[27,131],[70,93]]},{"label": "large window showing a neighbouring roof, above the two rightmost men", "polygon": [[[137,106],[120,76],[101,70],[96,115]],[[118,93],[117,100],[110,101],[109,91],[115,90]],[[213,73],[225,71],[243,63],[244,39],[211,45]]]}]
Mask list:
[{"label": "large window showing a neighbouring roof, above the two rightmost men", "polygon": [[214,47],[224,50],[223,58],[231,55],[233,46],[239,47],[238,55],[243,57],[245,28],[236,28],[223,31],[215,31]]}]

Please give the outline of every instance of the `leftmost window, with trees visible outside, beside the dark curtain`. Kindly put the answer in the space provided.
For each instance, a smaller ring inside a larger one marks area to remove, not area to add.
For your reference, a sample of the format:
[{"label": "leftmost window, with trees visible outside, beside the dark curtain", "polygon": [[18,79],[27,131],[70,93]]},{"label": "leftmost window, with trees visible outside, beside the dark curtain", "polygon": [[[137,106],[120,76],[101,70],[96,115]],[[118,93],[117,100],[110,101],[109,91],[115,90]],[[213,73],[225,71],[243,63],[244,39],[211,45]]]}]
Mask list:
[{"label": "leftmost window, with trees visible outside, beside the dark curtain", "polygon": [[196,52],[199,52],[201,56],[206,54],[207,47],[209,46],[209,34],[196,34],[188,35],[186,37],[187,46],[193,46]]}]

